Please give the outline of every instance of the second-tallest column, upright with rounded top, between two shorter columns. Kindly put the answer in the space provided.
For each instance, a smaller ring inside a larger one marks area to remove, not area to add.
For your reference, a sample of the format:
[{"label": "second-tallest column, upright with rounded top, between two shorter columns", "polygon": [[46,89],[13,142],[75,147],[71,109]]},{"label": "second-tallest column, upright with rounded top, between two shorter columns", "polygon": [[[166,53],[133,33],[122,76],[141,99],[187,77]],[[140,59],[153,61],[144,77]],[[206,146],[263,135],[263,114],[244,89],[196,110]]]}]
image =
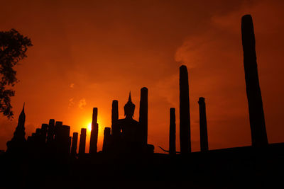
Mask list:
[{"label": "second-tallest column, upright with rounded top, between two shorter columns", "polygon": [[190,96],[187,67],[180,67],[180,153],[191,152],[190,142]]}]

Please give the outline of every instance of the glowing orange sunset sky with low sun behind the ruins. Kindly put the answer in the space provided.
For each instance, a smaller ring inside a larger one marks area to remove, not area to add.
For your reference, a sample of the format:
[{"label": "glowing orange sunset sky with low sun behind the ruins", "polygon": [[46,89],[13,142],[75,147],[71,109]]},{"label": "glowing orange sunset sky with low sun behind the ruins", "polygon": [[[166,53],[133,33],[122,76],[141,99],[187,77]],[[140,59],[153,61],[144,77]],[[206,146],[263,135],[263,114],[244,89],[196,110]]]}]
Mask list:
[{"label": "glowing orange sunset sky with low sun behind the ruins", "polygon": [[[190,79],[192,151],[200,150],[198,98],[207,103],[209,149],[251,144],[241,49],[241,16],[250,13],[268,142],[284,142],[283,1],[5,1],[0,30],[15,28],[33,47],[16,67],[15,119],[0,117],[0,149],[13,136],[23,102],[26,136],[50,118],[80,132],[99,108],[99,149],[131,91],[138,120],[140,88],[148,87],[148,143],[168,149],[169,111],[178,71]],[[89,132],[87,133],[89,150]]]}]

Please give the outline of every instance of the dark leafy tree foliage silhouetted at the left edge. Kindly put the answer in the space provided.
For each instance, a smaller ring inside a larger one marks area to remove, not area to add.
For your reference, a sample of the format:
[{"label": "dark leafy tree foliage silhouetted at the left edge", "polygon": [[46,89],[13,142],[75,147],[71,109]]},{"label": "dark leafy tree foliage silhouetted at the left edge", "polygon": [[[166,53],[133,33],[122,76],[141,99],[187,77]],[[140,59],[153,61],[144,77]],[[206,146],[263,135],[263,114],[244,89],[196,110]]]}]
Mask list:
[{"label": "dark leafy tree foliage silhouetted at the left edge", "polygon": [[31,46],[31,39],[15,29],[0,31],[0,113],[7,118],[13,118],[11,97],[15,91],[12,87],[18,82],[13,67],[26,57],[26,51]]}]

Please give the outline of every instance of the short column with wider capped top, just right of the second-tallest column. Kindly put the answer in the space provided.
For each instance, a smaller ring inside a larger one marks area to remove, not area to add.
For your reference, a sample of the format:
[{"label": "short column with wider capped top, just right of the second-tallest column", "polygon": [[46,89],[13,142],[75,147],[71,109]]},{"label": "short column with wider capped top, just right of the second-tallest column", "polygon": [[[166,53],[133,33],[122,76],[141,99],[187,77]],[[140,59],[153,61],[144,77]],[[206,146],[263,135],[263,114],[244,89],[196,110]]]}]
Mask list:
[{"label": "short column with wider capped top, just right of the second-tallest column", "polygon": [[207,151],[208,136],[207,136],[205,98],[200,97],[198,104],[200,105],[200,151]]}]

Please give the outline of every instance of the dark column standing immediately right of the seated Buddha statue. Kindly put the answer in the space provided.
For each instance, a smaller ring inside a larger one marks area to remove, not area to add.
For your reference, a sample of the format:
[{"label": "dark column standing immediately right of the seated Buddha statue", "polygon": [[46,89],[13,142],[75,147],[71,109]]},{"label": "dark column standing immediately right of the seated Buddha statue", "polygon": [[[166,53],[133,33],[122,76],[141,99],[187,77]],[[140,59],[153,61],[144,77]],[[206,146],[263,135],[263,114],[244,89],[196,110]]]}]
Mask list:
[{"label": "dark column standing immediately right of the seated Buddha statue", "polygon": [[142,128],[142,142],[146,145],[148,138],[148,88],[146,87],[141,88],[139,122]]}]

